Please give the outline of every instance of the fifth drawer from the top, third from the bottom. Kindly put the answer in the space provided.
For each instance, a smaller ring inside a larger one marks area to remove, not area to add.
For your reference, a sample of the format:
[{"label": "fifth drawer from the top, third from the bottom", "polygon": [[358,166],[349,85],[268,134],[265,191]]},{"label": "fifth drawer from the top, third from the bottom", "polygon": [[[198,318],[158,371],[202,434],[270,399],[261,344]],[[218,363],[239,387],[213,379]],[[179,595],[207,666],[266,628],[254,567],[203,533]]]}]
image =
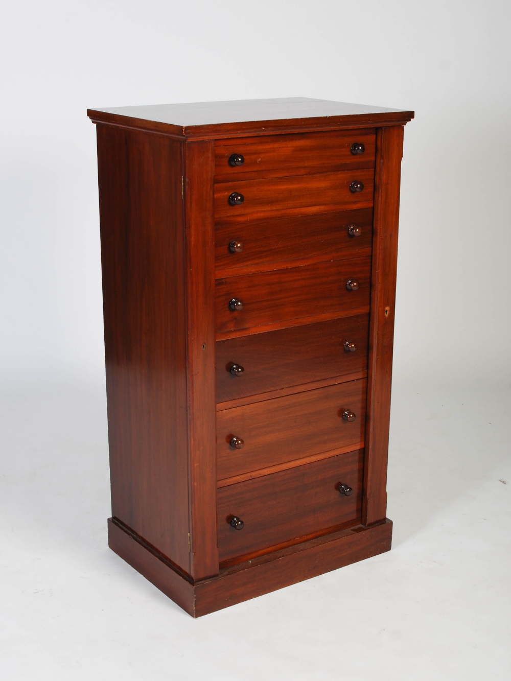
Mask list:
[{"label": "fifth drawer from the top, third from the bottom", "polygon": [[367,314],[217,340],[217,402],[365,370],[368,336]]}]

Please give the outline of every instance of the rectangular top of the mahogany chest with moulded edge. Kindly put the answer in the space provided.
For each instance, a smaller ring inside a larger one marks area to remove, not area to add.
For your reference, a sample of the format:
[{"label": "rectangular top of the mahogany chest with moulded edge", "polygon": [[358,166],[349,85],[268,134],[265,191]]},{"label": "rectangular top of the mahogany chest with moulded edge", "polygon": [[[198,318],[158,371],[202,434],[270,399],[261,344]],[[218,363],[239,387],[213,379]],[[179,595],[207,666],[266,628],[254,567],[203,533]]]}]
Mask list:
[{"label": "rectangular top of the mahogany chest with moulded edge", "polygon": [[404,125],[413,111],[341,101],[285,97],[195,104],[88,109],[94,123],[143,129],[181,138],[210,139],[282,132]]}]

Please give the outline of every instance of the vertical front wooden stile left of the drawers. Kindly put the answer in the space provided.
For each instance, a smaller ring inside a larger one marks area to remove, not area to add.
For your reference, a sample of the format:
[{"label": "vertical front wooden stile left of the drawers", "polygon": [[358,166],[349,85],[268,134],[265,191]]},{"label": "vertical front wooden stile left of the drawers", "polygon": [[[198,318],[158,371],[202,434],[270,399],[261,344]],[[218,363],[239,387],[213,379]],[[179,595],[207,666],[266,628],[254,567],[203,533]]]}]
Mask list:
[{"label": "vertical front wooden stile left of the drawers", "polygon": [[[187,368],[193,579],[218,573],[215,538],[215,264],[213,142],[185,146]],[[168,299],[167,306],[172,306]]]}]

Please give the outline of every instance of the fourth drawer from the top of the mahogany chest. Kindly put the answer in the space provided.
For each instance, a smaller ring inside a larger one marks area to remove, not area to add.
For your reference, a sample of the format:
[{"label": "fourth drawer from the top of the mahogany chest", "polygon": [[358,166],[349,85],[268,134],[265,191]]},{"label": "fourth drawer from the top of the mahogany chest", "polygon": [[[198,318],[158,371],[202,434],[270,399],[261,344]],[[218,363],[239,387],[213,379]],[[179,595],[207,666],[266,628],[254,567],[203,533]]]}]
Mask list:
[{"label": "fourth drawer from the top of the mahogany chest", "polygon": [[[356,291],[347,289],[350,280],[358,283]],[[369,306],[370,284],[369,256],[217,279],[217,332],[316,315],[340,317]],[[234,299],[242,309],[231,309]]]}]

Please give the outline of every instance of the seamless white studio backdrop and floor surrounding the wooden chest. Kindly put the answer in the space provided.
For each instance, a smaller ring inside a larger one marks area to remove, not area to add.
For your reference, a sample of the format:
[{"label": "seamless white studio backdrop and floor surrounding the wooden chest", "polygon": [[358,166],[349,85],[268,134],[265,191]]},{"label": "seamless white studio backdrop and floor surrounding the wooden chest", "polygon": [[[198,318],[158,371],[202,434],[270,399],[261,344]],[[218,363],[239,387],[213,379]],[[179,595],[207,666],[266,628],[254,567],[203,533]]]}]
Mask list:
[{"label": "seamless white studio backdrop and floor surrounding the wooden chest", "polygon": [[[508,0],[4,3],[2,678],[506,678],[510,14]],[[86,109],[293,96],[416,111],[401,184],[393,547],[194,621],[106,545]]]}]

